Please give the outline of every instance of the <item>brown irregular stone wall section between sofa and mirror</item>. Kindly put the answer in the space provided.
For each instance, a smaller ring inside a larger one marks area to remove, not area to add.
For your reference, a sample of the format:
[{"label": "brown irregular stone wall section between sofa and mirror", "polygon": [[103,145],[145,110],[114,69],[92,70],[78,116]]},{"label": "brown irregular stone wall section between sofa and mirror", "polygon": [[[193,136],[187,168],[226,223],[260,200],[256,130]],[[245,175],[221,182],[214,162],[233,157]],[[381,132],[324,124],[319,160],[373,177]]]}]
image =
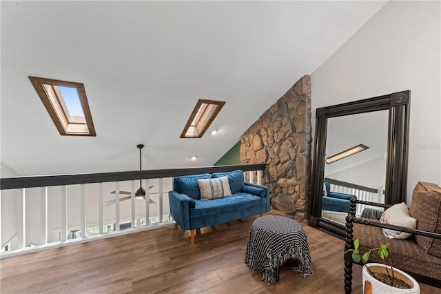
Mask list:
[{"label": "brown irregular stone wall section between sofa and mirror", "polygon": [[305,219],[311,190],[311,77],[305,75],[240,137],[243,164],[267,164],[271,206]]}]

